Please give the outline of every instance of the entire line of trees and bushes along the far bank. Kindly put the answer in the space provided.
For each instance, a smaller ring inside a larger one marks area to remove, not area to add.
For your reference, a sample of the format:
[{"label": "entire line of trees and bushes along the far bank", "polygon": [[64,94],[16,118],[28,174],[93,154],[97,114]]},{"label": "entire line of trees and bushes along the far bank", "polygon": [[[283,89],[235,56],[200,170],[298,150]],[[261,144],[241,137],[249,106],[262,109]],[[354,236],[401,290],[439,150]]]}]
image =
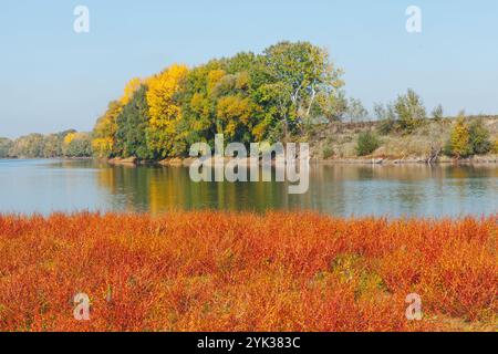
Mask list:
[{"label": "entire line of trees and bushes along the far bank", "polygon": [[[342,70],[326,50],[309,42],[280,42],[260,54],[241,52],[187,67],[174,64],[146,79],[132,79],[123,95],[107,105],[93,132],[30,134],[0,138],[0,157],[136,157],[160,160],[188,155],[194,143],[310,139],[330,122],[378,121],[357,137],[357,155],[372,154],[382,136],[412,134],[444,111],[430,114],[413,90],[372,115],[360,100],[346,98]],[[444,153],[455,157],[497,149],[480,123],[458,119]]]}]

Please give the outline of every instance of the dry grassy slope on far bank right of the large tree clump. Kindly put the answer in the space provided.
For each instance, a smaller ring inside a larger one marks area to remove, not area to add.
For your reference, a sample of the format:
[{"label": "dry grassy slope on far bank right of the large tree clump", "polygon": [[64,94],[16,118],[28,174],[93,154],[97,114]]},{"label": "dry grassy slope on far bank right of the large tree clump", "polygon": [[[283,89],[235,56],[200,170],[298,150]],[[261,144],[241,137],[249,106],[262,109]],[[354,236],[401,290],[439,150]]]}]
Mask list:
[{"label": "dry grassy slope on far bank right of the large tree clump", "polygon": [[[310,140],[312,156],[321,162],[371,162],[372,159],[397,163],[424,163],[438,152],[435,163],[453,162],[498,162],[498,116],[466,117],[466,124],[481,122],[489,133],[489,140],[495,144],[488,154],[469,158],[446,156],[444,148],[450,140],[457,118],[425,119],[413,132],[380,133],[382,122],[334,123],[313,129]],[[378,147],[371,154],[359,156],[357,140],[361,134],[372,132],[377,136]]]}]

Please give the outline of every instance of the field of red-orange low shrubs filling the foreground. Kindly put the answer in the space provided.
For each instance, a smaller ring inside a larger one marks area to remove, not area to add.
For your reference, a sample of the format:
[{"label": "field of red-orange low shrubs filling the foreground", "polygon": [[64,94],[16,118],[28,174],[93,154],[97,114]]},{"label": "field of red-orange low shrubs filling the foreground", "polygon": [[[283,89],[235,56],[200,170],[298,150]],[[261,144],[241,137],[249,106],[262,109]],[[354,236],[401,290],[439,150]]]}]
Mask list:
[{"label": "field of red-orange low shrubs filling the foreground", "polygon": [[496,331],[497,221],[0,216],[0,331]]}]

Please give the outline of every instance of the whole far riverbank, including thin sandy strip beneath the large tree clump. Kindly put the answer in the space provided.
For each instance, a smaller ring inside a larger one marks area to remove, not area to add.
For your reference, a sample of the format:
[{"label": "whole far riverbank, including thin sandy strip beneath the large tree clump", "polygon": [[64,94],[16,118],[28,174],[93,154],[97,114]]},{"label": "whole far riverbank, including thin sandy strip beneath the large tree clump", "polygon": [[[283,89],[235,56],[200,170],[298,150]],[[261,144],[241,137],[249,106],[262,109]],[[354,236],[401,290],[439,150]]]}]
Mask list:
[{"label": "whole far riverbank, including thin sandy strip beneath the large tree clump", "polygon": [[[324,124],[314,126],[308,137],[301,138],[310,145],[311,163],[313,164],[497,164],[498,163],[498,117],[467,117],[471,123],[479,121],[489,133],[492,149],[486,155],[475,155],[467,158],[446,156],[444,147],[450,138],[455,118],[427,119],[411,134],[391,133],[378,135],[380,146],[370,155],[359,156],[357,139],[366,132],[377,132],[380,122]],[[190,166],[193,158],[172,157],[160,162],[139,162],[135,157],[113,158],[112,164],[141,165],[156,164],[163,166]],[[225,159],[226,160],[226,159]],[[249,164],[247,158],[240,159]]]}]

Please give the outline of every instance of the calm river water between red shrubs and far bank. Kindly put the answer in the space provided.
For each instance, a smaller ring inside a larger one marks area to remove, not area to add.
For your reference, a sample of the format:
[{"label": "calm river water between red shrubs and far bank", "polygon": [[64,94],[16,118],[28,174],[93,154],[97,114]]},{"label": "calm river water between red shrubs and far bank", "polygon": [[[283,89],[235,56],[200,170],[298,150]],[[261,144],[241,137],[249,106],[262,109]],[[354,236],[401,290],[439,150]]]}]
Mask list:
[{"label": "calm river water between red shrubs and far bank", "polygon": [[313,209],[338,216],[498,212],[498,166],[317,166],[305,195],[281,183],[190,181],[184,167],[0,160],[0,212]]}]

